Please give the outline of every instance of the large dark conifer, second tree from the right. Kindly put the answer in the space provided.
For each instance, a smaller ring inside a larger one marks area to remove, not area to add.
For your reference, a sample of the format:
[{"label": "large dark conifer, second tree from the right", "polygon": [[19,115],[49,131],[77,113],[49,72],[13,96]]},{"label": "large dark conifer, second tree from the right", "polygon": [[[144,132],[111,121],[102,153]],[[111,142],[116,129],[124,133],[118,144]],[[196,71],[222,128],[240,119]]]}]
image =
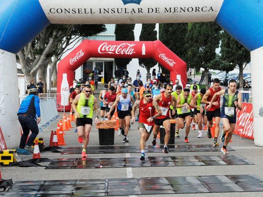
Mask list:
[{"label": "large dark conifer, second tree from the right", "polygon": [[220,31],[220,26],[214,22],[191,23],[186,35],[186,61],[191,67],[204,69],[207,87],[207,73],[209,69],[213,69],[210,62],[215,59],[215,49],[220,43]]}]

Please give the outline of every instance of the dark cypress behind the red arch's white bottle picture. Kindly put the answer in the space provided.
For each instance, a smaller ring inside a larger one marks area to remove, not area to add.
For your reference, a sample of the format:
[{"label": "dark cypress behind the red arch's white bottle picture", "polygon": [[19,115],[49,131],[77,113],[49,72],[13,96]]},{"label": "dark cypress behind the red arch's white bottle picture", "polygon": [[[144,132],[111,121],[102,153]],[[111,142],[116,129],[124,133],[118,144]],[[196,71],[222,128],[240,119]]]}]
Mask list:
[{"label": "dark cypress behind the red arch's white bottle picture", "polygon": [[[157,40],[156,24],[143,24],[140,34],[140,41],[154,41]],[[147,78],[150,78],[150,69],[157,64],[153,58],[139,58],[139,65],[147,70]]]}]

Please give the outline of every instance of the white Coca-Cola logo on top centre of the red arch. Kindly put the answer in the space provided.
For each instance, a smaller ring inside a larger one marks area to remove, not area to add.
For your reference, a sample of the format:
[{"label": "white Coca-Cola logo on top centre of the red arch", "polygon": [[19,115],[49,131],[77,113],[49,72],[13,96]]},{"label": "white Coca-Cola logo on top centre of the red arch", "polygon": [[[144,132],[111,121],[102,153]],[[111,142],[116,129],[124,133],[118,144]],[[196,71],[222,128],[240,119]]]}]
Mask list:
[{"label": "white Coca-Cola logo on top centre of the red arch", "polygon": [[121,55],[132,55],[135,54],[134,46],[136,44],[129,44],[129,43],[121,43],[119,45],[108,45],[107,42],[102,43],[99,48],[98,52],[100,54],[121,54]]}]

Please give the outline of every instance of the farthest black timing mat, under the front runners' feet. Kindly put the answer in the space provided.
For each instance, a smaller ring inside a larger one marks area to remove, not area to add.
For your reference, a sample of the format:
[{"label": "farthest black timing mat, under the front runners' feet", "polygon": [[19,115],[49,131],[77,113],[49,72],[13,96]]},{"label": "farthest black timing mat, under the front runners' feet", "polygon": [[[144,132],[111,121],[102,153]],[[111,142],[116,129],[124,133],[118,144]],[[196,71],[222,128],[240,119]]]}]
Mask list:
[{"label": "farthest black timing mat, under the front runners' feet", "polygon": [[[218,152],[221,151],[221,146],[214,147],[212,144],[197,144],[197,145],[168,145],[171,153],[173,152]],[[146,147],[146,153],[161,153],[163,146],[149,145]],[[141,153],[139,146],[125,145],[108,145],[108,146],[87,146],[87,154],[121,154],[121,153]],[[228,146],[228,151],[235,151]],[[82,148],[80,146],[68,146],[62,151],[62,155],[81,155]]]}]

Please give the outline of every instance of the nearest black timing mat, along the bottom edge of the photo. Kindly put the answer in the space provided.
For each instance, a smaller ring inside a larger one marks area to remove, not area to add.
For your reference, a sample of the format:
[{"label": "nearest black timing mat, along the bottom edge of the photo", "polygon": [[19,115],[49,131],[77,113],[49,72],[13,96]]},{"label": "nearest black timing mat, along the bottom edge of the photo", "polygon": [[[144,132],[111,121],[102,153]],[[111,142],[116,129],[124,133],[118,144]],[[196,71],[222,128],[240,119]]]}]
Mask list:
[{"label": "nearest black timing mat, along the bottom edge of the photo", "polygon": [[263,191],[255,175],[17,181],[4,196],[109,196]]}]

